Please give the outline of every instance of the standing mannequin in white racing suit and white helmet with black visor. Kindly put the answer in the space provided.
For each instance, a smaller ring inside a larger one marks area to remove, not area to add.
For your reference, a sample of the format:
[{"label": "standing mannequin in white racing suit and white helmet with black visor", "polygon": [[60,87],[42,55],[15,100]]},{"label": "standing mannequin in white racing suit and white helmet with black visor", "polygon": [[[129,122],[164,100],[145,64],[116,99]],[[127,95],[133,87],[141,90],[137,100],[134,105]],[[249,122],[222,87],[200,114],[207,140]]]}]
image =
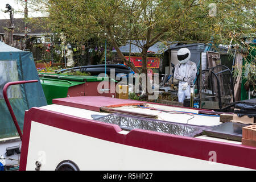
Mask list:
[{"label": "standing mannequin in white racing suit and white helmet with black visor", "polygon": [[190,61],[191,52],[188,48],[181,48],[177,52],[179,63],[175,67],[174,78],[179,80],[179,102],[190,96],[190,89],[196,78],[196,64]]}]

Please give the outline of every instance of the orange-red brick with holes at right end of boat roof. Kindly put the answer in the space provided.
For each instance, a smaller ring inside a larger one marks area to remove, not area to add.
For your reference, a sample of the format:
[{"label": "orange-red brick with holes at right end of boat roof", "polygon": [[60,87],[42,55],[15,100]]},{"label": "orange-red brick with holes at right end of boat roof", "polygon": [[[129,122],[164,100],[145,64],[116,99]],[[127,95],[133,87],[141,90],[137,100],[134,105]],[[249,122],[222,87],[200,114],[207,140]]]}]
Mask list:
[{"label": "orange-red brick with holes at right end of boat roof", "polygon": [[256,147],[256,125],[242,128],[242,144]]}]

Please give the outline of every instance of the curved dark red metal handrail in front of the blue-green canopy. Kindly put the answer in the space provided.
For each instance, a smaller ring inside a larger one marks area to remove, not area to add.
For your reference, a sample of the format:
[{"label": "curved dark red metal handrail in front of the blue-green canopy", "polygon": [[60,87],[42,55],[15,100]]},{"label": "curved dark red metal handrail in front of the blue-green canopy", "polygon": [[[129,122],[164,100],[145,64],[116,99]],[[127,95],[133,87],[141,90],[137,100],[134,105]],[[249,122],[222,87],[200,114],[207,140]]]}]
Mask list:
[{"label": "curved dark red metal handrail in front of the blue-green canopy", "polygon": [[14,122],[14,125],[19,133],[19,137],[20,137],[20,140],[22,140],[22,131],[20,130],[20,127],[19,127],[19,124],[17,122],[17,119],[15,117],[15,114],[14,114],[14,111],[13,111],[13,108],[11,107],[11,104],[9,102],[9,99],[8,99],[8,96],[7,96],[7,89],[10,85],[19,85],[19,84],[27,84],[27,83],[31,83],[31,82],[38,82],[38,80],[28,80],[28,81],[13,81],[13,82],[8,82],[7,84],[5,84],[5,86],[3,87],[3,98],[5,98],[5,102],[6,102],[6,105],[10,111],[10,114],[11,114],[11,118],[13,118],[13,122]]}]

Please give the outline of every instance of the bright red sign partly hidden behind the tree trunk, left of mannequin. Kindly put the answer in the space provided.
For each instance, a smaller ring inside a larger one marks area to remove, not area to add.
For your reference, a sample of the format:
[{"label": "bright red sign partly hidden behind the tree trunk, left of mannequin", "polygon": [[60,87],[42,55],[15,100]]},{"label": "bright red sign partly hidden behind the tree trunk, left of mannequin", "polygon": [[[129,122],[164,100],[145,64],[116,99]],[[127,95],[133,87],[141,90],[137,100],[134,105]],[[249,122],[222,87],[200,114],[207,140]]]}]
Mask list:
[{"label": "bright red sign partly hidden behind the tree trunk, left of mannequin", "polygon": [[[127,60],[129,60],[129,56],[125,56]],[[134,57],[131,56],[131,61],[135,65],[135,67],[142,67],[142,57]],[[159,68],[160,58],[159,57],[147,57],[147,68]]]}]

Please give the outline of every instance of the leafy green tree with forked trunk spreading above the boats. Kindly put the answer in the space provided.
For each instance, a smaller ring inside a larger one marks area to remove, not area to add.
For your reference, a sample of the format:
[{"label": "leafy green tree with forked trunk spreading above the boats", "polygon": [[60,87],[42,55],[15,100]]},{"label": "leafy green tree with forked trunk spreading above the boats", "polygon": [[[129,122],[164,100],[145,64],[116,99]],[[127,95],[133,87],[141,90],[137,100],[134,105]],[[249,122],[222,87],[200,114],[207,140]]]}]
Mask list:
[{"label": "leafy green tree with forked trunk spreading above the boats", "polygon": [[[20,0],[21,1],[21,0]],[[66,32],[73,41],[108,38],[119,57],[135,72],[119,46],[138,42],[142,73],[147,74],[147,51],[156,42],[202,42],[245,44],[243,34],[255,32],[254,0],[30,0],[46,7],[56,32]],[[216,9],[214,9],[216,7]],[[210,14],[209,13],[212,13]]]}]

